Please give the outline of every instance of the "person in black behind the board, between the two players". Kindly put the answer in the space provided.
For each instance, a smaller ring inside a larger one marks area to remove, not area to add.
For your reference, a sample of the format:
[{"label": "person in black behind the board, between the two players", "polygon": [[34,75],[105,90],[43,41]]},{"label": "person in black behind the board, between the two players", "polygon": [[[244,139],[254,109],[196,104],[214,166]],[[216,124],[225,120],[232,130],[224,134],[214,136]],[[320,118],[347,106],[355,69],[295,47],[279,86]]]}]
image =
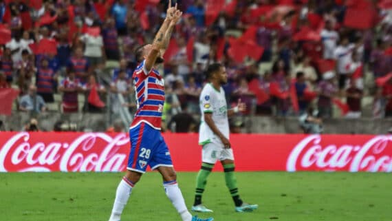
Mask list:
[{"label": "person in black behind the board, between the two players", "polygon": [[197,122],[188,112],[186,104],[181,105],[182,112],[175,114],[167,124],[167,128],[173,133],[196,132]]}]

